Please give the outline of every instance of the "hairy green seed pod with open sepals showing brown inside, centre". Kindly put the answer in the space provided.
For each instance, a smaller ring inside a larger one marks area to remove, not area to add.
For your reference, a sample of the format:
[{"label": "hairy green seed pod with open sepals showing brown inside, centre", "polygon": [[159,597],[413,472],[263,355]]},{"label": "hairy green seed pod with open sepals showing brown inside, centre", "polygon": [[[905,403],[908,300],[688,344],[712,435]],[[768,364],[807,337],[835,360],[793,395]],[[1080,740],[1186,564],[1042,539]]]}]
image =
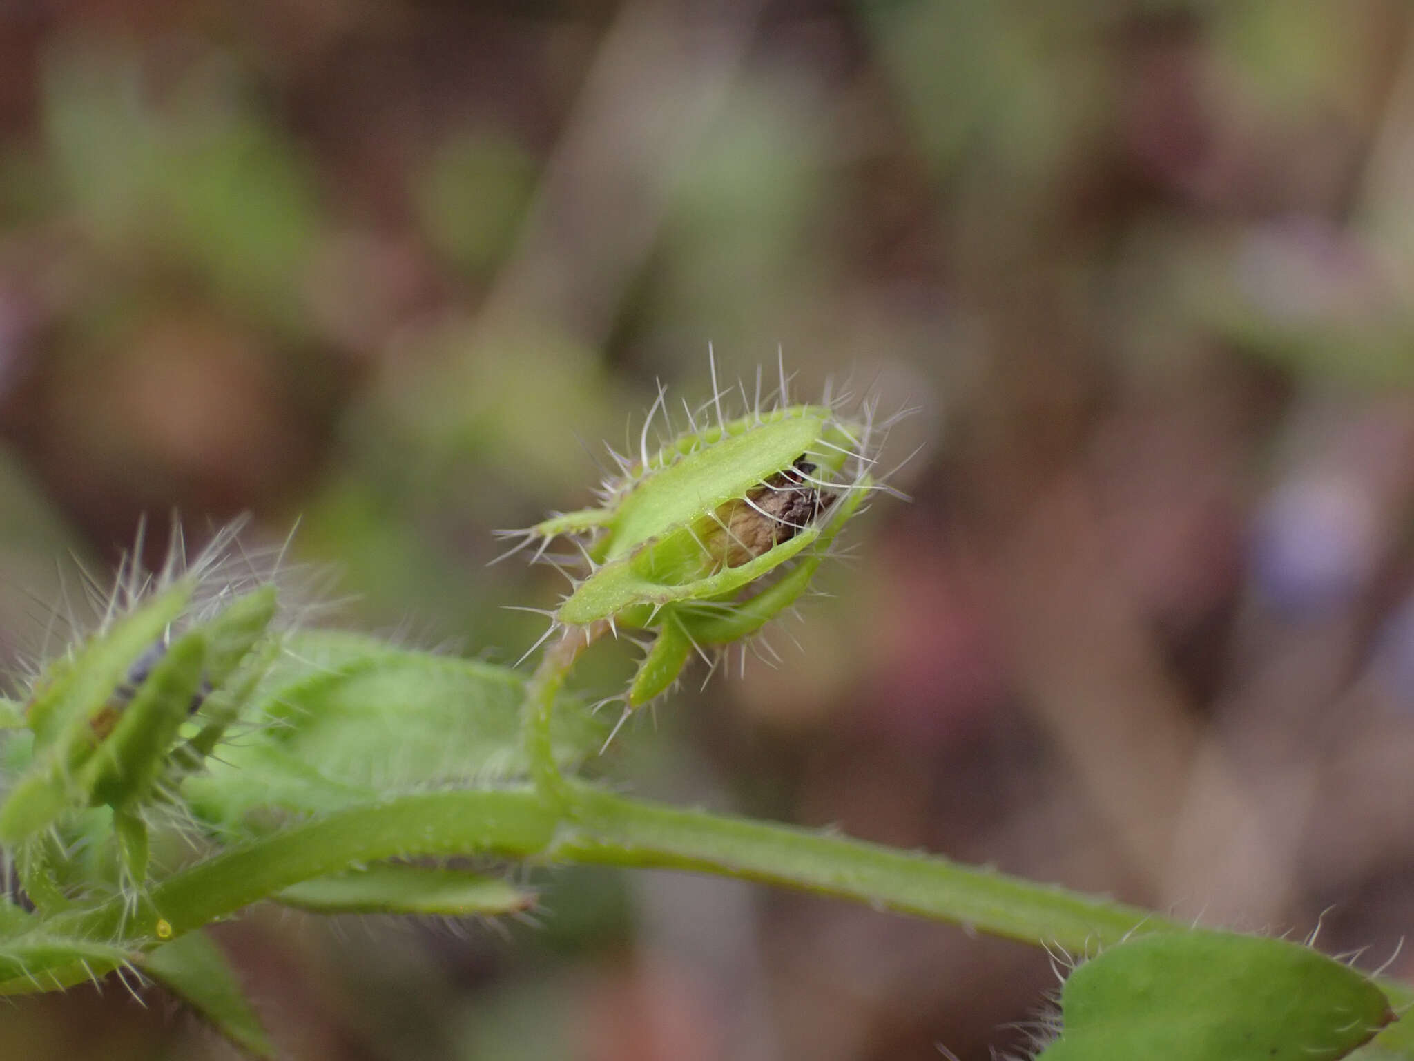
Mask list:
[{"label": "hairy green seed pod with open sepals showing brown inside, centre", "polygon": [[546,637],[563,627],[587,628],[588,638],[621,628],[653,635],[631,707],[670,688],[694,651],[741,641],[795,604],[877,487],[870,407],[851,419],[830,405],[782,402],[727,419],[723,399],[689,410],[687,430],[650,450],[655,416],[662,409],[667,419],[659,392],[639,458],[614,454],[622,474],[604,484],[601,505],[512,532],[518,549],[537,543],[537,559],[559,536],[583,557],[584,577]]}]

